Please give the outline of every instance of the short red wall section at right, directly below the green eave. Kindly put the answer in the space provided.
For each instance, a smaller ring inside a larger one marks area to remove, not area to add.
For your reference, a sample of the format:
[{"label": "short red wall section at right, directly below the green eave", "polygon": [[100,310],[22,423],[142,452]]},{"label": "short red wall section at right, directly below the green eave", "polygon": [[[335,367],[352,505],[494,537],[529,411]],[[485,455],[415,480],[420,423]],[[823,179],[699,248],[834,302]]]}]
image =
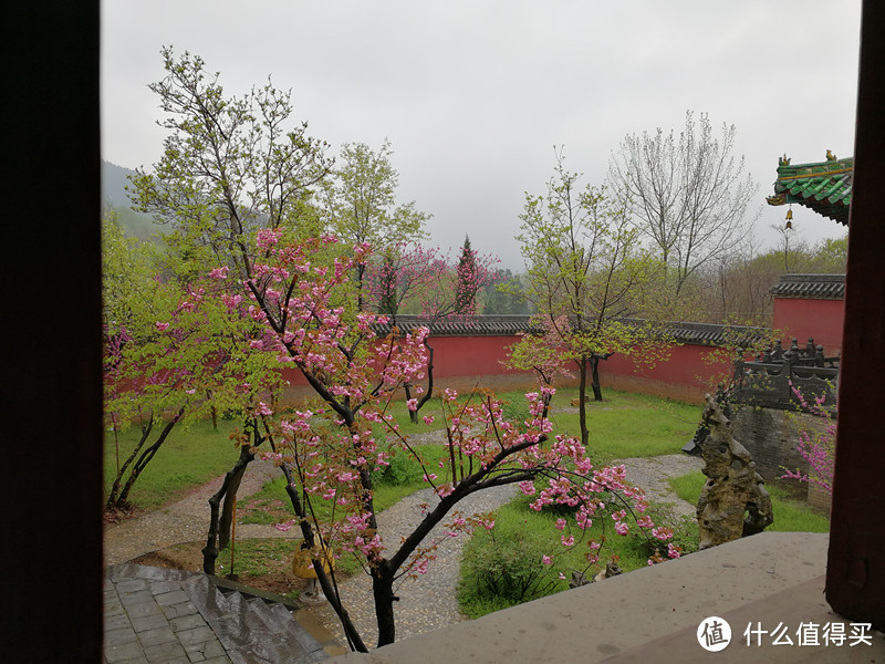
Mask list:
[{"label": "short red wall section at right, directly below the green eave", "polygon": [[784,344],[795,336],[804,346],[813,336],[814,344],[823,345],[826,355],[839,354],[844,320],[843,300],[774,298],[774,329],[784,331]]}]

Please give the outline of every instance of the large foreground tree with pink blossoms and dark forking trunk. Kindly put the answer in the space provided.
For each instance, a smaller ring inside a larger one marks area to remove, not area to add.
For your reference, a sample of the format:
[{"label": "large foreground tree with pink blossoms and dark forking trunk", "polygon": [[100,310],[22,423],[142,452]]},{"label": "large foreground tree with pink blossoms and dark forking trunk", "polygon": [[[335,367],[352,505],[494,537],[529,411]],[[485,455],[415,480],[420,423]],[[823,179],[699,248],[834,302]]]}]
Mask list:
[{"label": "large foreground tree with pink blossoms and dark forking trunk", "polygon": [[[270,442],[270,456],[287,474],[293,522],[301,528],[323,591],[355,650],[365,650],[365,644],[339,595],[334,571],[324,569],[326,556],[354,554],[362,562],[373,582],[378,645],[391,643],[396,636],[394,584],[426,571],[438,544],[425,541],[434,527],[444,523],[447,537],[493,527],[488,517],[458,511],[459,501],[476,491],[516,484],[537,496],[535,509],[574,508],[581,530],[615,508],[617,532],[636,528],[649,540],[668,539],[665,529],[653,531],[644,495],[627,485],[623,468],[594,468],[579,442],[549,439],[552,426],[543,392],[527,395],[529,418],[512,423],[491,394],[478,392],[459,401],[447,391],[442,398],[448,455],[430,467],[388,413],[396,393],[425,369],[427,329],[379,339],[373,325],[381,319],[366,313],[348,318],[336,303],[348,292],[353,262],[366,260],[367,247],[358,246],[347,251],[352,257],[339,257],[325,267],[312,259],[327,252],[334,238],[292,242],[283,236],[259,231],[263,259],[243,281],[249,297],[225,302],[261,325],[248,351],[298,369],[320,397],[317,405],[285,414],[260,403],[254,416]],[[379,444],[381,436],[387,445]],[[409,455],[420,464],[436,496],[402,541],[385,539],[373,498],[372,471],[386,465],[391,454]],[[325,509],[317,509],[321,505]],[[572,537],[563,546],[574,543]],[[589,557],[596,556],[597,549],[590,547]]]}]

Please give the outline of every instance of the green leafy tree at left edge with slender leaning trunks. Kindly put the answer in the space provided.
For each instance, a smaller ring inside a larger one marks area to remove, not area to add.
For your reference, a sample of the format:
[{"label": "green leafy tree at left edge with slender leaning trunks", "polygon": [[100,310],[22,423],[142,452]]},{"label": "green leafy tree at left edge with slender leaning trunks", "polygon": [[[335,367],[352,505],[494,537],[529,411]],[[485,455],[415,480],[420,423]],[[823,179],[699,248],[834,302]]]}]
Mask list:
[{"label": "green leafy tree at left edge with slender leaning trunks", "polygon": [[106,508],[126,509],[142,473],[176,426],[217,409],[242,407],[248,373],[254,390],[269,375],[256,357],[231,344],[250,339],[254,324],[225,308],[194,305],[202,287],[164,280],[156,247],[126,238],[112,218],[103,225],[105,417],[116,445],[118,432],[140,427],[134,448],[121,459]]}]

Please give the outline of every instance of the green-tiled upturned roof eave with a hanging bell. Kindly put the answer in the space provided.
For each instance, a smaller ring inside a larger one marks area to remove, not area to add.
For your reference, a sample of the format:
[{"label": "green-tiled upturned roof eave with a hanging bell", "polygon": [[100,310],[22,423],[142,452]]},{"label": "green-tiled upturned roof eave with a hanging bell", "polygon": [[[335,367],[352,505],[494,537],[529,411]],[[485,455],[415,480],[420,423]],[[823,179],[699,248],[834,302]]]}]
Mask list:
[{"label": "green-tiled upturned roof eave with a hanging bell", "polygon": [[854,157],[796,165],[782,157],[768,204],[795,203],[847,226],[853,173]]}]

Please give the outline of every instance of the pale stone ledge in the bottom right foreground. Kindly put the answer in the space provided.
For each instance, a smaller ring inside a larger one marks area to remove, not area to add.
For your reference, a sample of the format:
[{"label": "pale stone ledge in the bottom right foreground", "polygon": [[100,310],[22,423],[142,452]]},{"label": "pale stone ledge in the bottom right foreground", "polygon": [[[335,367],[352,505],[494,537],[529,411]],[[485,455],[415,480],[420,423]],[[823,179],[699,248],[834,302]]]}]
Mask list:
[{"label": "pale stone ledge in the bottom right foreground", "polygon": [[[770,629],[784,622],[794,632],[802,621],[836,620],[822,594],[827,542],[821,533],[764,532],[332,662],[709,662],[696,631],[711,615],[735,621],[732,643],[717,661],[844,661],[846,646],[740,643],[749,621],[773,621]],[[873,640],[851,655],[885,661],[885,641]]]}]

